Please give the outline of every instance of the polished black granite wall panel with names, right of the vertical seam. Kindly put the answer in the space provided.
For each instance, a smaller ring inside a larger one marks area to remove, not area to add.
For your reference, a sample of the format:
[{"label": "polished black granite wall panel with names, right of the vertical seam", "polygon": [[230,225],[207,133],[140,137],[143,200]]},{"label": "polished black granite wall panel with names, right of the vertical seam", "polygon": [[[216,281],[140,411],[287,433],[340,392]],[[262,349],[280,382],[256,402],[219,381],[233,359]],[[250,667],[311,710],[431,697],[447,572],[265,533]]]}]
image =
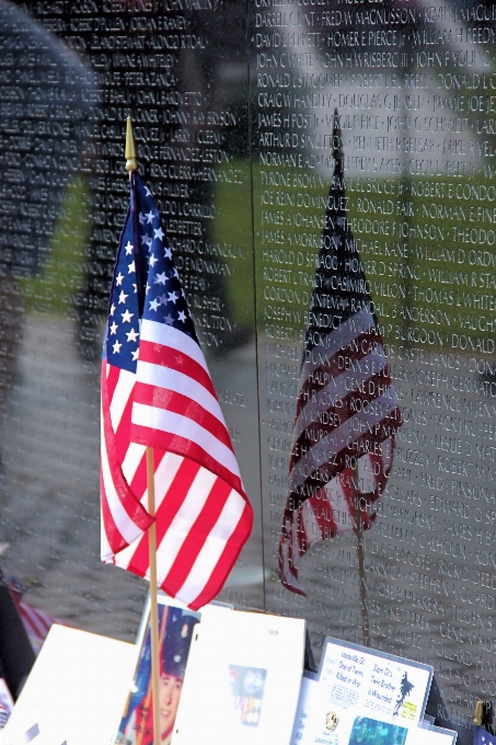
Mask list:
[{"label": "polished black granite wall panel with names, right of the vertical seam", "polygon": [[[331,633],[429,662],[443,699],[432,713],[466,736],[476,698],[496,685],[494,7],[258,0],[251,8],[261,463],[274,568],[266,608],[307,617],[315,646]],[[330,193],[333,151],[345,184]],[[331,234],[330,221],[343,216],[349,232],[339,259],[339,229]],[[325,370],[315,348],[344,333],[361,290],[344,296],[359,282],[402,417],[391,431],[395,447],[384,436],[379,448],[392,449],[393,467],[376,490],[380,502],[367,505],[377,513],[367,530],[354,508],[373,492],[357,468],[380,416],[373,349],[341,347],[325,404],[315,373]],[[302,444],[295,414],[312,397]],[[323,470],[350,443],[353,475],[330,489]],[[315,497],[319,489],[327,495]],[[288,493],[291,506],[314,496],[296,531],[292,524],[292,546],[281,531]],[[348,525],[333,527],[339,511]],[[318,541],[325,530],[337,535]],[[295,545],[304,554],[297,562],[304,595],[278,580],[280,547],[293,555]]]}]

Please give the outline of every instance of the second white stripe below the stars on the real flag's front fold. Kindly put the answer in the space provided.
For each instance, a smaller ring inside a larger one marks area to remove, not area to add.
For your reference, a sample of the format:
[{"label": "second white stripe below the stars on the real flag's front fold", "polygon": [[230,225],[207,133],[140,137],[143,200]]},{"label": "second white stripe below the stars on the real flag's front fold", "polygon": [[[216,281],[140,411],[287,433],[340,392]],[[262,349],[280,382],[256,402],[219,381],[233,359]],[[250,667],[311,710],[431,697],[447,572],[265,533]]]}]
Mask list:
[{"label": "second white stripe below the stars on the real flag's front fold", "polygon": [[200,406],[226,426],[216,397],[189,375],[181,373],[180,370],[173,370],[170,367],[140,362],[138,363],[138,373],[136,377],[140,383],[171,390],[174,391],[174,393],[181,393],[182,396],[192,399],[192,401],[199,403]]}]

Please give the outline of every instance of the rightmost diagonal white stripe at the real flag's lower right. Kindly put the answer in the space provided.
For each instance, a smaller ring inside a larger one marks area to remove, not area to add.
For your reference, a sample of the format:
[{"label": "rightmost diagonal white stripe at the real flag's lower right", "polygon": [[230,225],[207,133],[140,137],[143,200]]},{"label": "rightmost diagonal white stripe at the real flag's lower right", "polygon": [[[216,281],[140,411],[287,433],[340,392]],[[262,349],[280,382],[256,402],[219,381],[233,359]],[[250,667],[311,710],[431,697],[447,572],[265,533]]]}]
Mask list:
[{"label": "rightmost diagonal white stripe at the real flag's lower right", "polygon": [[245,501],[234,489],[229,494],[222,512],[216,524],[208,534],[207,540],[201,547],[191,572],[177,592],[177,597],[183,603],[192,603],[201,593],[205,586],[205,577],[211,576],[226,549],[229,538],[234,532],[243,511]]}]

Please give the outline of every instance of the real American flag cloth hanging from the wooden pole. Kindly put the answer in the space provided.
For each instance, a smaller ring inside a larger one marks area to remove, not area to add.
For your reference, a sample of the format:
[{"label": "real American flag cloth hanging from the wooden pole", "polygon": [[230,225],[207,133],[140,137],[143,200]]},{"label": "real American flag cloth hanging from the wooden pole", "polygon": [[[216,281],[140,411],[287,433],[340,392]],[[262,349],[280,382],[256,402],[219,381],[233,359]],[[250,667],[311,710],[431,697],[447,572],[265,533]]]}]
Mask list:
[{"label": "real American flag cloth hanging from the wooden pole", "polygon": [[149,576],[154,451],[159,586],[193,609],[222,588],[253,513],[160,215],[132,171],[102,365],[102,560]]}]

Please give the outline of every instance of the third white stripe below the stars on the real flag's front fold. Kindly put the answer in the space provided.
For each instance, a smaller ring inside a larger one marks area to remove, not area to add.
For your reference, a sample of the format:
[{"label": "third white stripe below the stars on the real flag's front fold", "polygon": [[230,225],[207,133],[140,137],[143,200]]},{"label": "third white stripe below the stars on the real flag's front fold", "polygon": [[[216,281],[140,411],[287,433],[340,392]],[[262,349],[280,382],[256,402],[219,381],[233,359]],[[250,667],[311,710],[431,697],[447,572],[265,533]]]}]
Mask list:
[{"label": "third white stripe below the stars on the real flag's front fold", "polygon": [[208,429],[191,420],[187,414],[176,414],[173,411],[135,402],[132,404],[132,423],[189,439],[231,473],[238,477],[240,474],[233,451]]}]

